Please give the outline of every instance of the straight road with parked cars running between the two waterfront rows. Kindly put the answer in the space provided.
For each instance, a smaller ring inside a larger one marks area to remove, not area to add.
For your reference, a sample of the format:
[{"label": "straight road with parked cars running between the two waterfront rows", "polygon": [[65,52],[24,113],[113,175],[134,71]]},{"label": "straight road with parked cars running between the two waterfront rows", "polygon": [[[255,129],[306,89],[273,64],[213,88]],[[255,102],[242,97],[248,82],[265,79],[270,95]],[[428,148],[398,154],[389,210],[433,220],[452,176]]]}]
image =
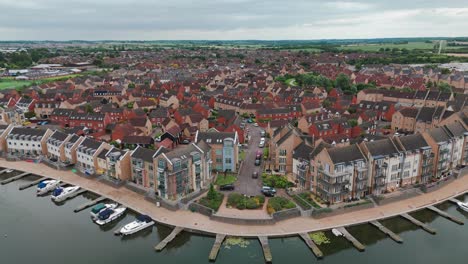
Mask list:
[{"label": "straight road with parked cars running between the two waterfront rows", "polygon": [[[249,129],[248,135],[250,136],[249,143],[247,144],[247,148],[244,148],[245,151],[245,160],[242,164],[242,167],[239,171],[237,182],[235,183],[236,190],[235,192],[239,192],[242,194],[246,194],[249,196],[252,195],[259,195],[261,194],[260,189],[262,186],[262,168],[263,168],[263,161],[260,166],[255,166],[255,155],[257,150],[263,152],[262,148],[258,147],[260,143],[260,131],[263,130],[261,127],[254,127],[252,124],[247,124],[246,129]],[[247,137],[247,133],[246,133]],[[262,153],[263,155],[263,153]],[[253,179],[252,173],[254,171],[258,172],[258,178]]]}]

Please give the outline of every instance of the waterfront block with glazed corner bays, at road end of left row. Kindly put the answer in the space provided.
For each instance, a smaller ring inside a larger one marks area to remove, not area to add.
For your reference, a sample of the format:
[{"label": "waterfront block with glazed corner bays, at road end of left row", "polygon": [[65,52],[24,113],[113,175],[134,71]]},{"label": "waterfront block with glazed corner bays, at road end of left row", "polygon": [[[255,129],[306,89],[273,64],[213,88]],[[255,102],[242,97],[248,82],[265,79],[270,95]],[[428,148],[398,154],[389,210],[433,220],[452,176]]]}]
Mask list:
[{"label": "waterfront block with glazed corner bays, at road end of left row", "polygon": [[163,199],[179,200],[206,188],[211,181],[210,147],[192,143],[161,153],[157,164],[156,193]]}]

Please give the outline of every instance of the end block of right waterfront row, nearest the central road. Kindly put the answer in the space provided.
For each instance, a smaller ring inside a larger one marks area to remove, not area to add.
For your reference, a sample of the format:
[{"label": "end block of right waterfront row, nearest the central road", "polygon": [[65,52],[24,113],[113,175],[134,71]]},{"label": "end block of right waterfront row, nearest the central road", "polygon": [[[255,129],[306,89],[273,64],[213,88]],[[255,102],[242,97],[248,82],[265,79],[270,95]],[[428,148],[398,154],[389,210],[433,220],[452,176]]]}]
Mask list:
[{"label": "end block of right waterfront row, nearest the central road", "polygon": [[366,156],[358,145],[323,148],[314,159],[317,167],[315,193],[330,203],[368,194]]}]

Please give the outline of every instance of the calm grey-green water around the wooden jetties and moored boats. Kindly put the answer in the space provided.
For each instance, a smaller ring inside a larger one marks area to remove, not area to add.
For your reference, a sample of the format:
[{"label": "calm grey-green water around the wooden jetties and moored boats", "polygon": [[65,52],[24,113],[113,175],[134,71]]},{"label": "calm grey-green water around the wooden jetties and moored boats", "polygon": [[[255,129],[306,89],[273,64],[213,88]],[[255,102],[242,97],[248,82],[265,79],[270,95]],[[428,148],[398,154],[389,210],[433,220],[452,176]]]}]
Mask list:
[{"label": "calm grey-green water around the wooden jetties and moored boats", "polygon": [[[5,179],[0,175],[0,180]],[[34,187],[19,191],[18,187],[34,177],[0,186],[0,263],[209,263],[208,254],[214,238],[182,233],[162,252],[153,247],[170,233],[170,229],[155,226],[152,230],[129,238],[114,236],[117,227],[133,221],[128,213],[118,223],[100,228],[93,224],[89,209],[73,213],[78,205],[94,197],[76,197],[57,206],[50,197],[35,196]],[[449,203],[439,207],[465,219],[468,214]],[[364,245],[358,252],[343,238],[326,232],[331,243],[321,245],[323,260],[316,260],[300,238],[270,239],[274,263],[467,263],[468,225],[459,226],[435,213],[423,210],[413,214],[430,223],[438,233],[430,235],[406,220],[382,221],[404,239],[397,244],[373,226],[361,225],[348,230]],[[7,235],[7,236],[5,236]],[[257,240],[242,245],[223,245],[216,263],[264,263]]]}]

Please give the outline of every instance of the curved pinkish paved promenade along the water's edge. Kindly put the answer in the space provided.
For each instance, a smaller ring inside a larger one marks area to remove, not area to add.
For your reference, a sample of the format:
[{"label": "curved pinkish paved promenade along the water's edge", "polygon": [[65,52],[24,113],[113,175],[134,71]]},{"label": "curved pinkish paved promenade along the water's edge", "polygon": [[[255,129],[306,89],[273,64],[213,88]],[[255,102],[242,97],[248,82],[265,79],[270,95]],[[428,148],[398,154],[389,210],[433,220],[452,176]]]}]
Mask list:
[{"label": "curved pinkish paved promenade along the water's edge", "polygon": [[[297,235],[300,233],[331,229],[350,224],[364,223],[381,218],[392,217],[402,213],[408,213],[419,208],[445,201],[468,191],[468,177],[457,179],[441,189],[428,194],[422,194],[403,201],[363,209],[360,211],[344,213],[322,219],[310,217],[296,217],[272,225],[235,225],[210,220],[209,217],[192,213],[186,210],[170,211],[156,207],[153,203],[145,200],[143,196],[132,192],[124,187],[116,189],[96,180],[80,177],[71,171],[58,171],[43,164],[34,164],[24,161],[8,162],[0,160],[0,167],[11,168],[30,172],[36,175],[61,179],[70,184],[79,185],[99,195],[106,196],[136,210],[140,213],[150,215],[157,222],[180,226],[185,229],[201,231],[205,233],[219,233],[242,237],[281,237]],[[1,188],[1,187],[0,187]]]}]

